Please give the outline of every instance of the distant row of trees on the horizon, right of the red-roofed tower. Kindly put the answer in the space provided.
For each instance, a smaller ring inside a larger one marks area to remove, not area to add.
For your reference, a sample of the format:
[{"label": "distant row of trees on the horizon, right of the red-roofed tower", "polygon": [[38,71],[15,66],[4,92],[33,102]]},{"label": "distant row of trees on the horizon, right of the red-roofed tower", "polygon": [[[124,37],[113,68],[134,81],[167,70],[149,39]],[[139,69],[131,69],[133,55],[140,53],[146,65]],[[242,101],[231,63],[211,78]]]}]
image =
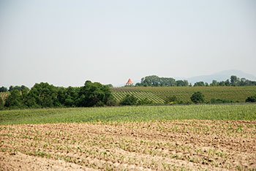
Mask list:
[{"label": "distant row of trees on the horizon, right of the red-roofed tower", "polygon": [[[167,87],[167,86],[192,86],[187,80],[175,80],[173,77],[158,77],[157,75],[150,75],[141,78],[140,83],[135,86],[144,87]],[[225,81],[212,80],[212,83],[204,83],[199,81],[193,86],[256,86],[256,81],[246,80],[246,78],[239,78],[236,75],[231,75],[230,79]]]}]

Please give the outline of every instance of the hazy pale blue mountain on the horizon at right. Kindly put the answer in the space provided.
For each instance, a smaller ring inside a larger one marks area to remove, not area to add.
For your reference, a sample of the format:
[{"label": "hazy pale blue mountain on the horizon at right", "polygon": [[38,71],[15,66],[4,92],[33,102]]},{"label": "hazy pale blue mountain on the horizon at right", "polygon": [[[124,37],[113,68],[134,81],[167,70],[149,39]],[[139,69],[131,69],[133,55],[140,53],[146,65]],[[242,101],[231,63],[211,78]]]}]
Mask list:
[{"label": "hazy pale blue mountain on the horizon at right", "polygon": [[[201,75],[196,77],[184,78],[183,80],[188,80],[189,83],[192,83],[192,84],[199,81],[203,81],[205,83],[211,83],[212,80],[225,81],[227,79],[230,79],[231,75],[236,75],[239,78],[245,77],[247,80],[256,80],[255,75],[250,75],[239,70],[226,70],[222,72],[217,72],[213,75]],[[179,80],[179,79],[176,79],[176,80]]]}]

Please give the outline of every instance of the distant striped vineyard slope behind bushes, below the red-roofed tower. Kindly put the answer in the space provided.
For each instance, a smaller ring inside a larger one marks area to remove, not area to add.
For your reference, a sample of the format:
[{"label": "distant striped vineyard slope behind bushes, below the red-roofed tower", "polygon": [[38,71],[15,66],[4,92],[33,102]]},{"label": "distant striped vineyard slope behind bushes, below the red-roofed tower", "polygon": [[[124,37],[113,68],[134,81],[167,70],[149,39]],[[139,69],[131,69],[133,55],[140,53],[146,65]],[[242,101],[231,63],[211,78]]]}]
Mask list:
[{"label": "distant striped vineyard slope behind bushes, below the red-roofed tower", "polygon": [[229,99],[233,102],[245,102],[248,96],[256,94],[256,86],[244,87],[123,87],[111,88],[113,96],[120,102],[127,94],[138,99],[150,99],[156,104],[163,104],[168,96],[175,95],[178,101],[191,102],[190,96],[201,91],[206,101],[210,99]]}]

